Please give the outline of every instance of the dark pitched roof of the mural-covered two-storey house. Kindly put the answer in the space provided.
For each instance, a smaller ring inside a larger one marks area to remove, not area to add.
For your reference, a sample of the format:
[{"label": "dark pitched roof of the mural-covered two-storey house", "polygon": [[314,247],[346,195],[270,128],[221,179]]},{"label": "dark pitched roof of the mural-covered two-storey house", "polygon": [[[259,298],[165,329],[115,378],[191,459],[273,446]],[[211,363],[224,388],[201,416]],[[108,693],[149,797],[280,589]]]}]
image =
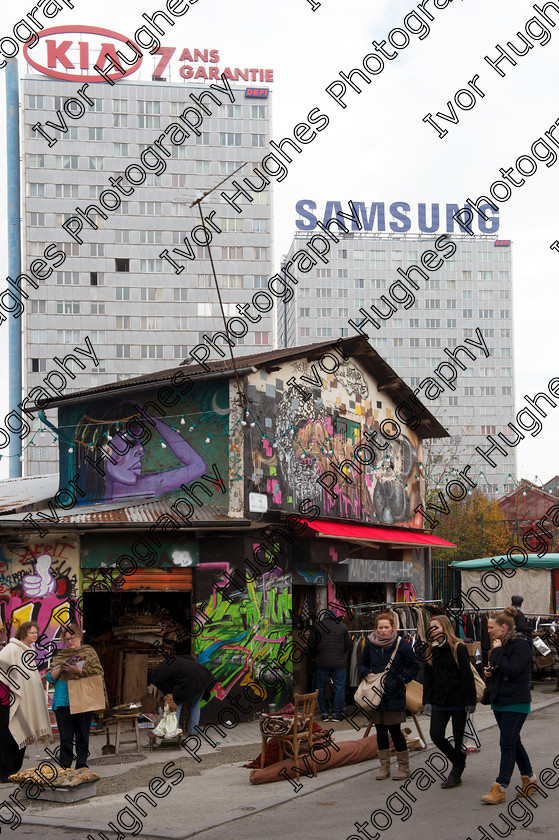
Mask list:
[{"label": "dark pitched roof of the mural-covered two-storey house", "polygon": [[[331,350],[335,344],[338,346],[341,345],[347,356],[356,359],[356,361],[362,364],[377,382],[379,390],[389,391],[391,398],[396,404],[403,403],[413,396],[413,391],[409,385],[398,376],[396,371],[371,347],[367,339],[363,336],[339,339],[335,343],[332,341],[322,341],[319,344],[306,344],[287,350],[269,350],[266,353],[239,356],[235,358],[235,364],[237,369],[250,368],[251,366],[255,368],[267,368],[273,366],[274,363],[289,362],[302,357],[306,357],[312,361],[313,359],[319,359],[323,353]],[[50,401],[49,407],[80,402],[85,398],[103,397],[107,394],[121,392],[127,389],[135,389],[137,391],[145,390],[150,386],[170,382],[179,373],[185,378],[195,378],[200,381],[208,378],[216,378],[216,374],[220,373],[224,377],[231,376],[233,373],[233,365],[230,358],[206,362],[206,367],[208,370],[203,368],[202,365],[188,365],[187,367],[183,363],[179,367],[158,370],[154,373],[136,376],[119,382],[109,382],[106,385],[98,385],[96,388],[88,388],[84,391],[73,391],[70,394],[63,394],[57,400]],[[414,400],[416,399],[417,397],[414,396]],[[422,416],[421,423],[417,426],[417,431],[420,436],[423,438],[448,437],[449,433],[444,426],[439,423],[427,407],[424,408],[425,412]]]}]

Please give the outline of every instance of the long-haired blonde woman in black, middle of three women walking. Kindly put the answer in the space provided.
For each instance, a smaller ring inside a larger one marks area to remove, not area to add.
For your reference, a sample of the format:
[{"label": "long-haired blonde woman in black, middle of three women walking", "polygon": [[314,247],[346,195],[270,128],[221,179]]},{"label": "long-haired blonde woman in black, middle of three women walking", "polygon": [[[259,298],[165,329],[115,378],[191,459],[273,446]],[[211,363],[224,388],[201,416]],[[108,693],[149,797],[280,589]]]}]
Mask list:
[{"label": "long-haired blonde woman in black, middle of three women walking", "polygon": [[[446,615],[433,618],[428,637],[423,704],[425,713],[431,715],[431,740],[452,762],[441,787],[453,788],[462,784],[466,767],[462,741],[467,717],[475,712],[476,687],[468,648],[455,635]],[[449,720],[454,744],[446,737]]]}]

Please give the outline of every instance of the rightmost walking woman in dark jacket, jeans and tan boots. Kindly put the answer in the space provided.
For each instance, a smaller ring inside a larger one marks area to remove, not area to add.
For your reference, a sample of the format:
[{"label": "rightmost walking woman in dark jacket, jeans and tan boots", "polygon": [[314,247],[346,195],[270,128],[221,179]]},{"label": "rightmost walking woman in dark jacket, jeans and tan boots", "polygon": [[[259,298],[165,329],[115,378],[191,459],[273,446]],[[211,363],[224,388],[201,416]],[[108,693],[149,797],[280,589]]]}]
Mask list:
[{"label": "rightmost walking woman in dark jacket, jeans and tan boots", "polygon": [[507,607],[491,616],[487,623],[493,648],[485,676],[489,680],[491,708],[501,733],[499,775],[489,793],[481,797],[487,805],[500,805],[506,801],[505,790],[515,764],[522,778],[522,788],[517,789],[517,796],[530,796],[538,788],[528,753],[520,740],[520,730],[530,713],[532,648],[514,629],[515,612],[514,607]]}]

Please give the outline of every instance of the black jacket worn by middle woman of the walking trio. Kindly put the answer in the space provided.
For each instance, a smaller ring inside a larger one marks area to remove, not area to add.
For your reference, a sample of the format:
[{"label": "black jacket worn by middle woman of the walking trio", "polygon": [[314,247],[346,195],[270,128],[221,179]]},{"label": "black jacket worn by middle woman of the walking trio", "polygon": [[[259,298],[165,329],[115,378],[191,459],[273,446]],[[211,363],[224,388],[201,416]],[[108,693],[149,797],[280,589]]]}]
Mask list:
[{"label": "black jacket worn by middle woman of the walking trio", "polygon": [[458,664],[446,642],[433,647],[433,660],[425,664],[423,705],[476,705],[476,687],[466,645],[458,645],[456,656]]}]

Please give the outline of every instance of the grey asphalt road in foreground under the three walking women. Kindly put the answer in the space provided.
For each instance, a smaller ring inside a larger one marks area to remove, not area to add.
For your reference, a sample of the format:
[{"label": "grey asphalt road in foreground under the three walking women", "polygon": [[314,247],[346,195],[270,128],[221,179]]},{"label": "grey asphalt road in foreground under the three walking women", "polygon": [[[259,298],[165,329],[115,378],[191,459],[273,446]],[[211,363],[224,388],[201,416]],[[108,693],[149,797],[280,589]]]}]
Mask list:
[{"label": "grey asphalt road in foreground under the three walking women", "polygon": [[[559,704],[530,715],[524,727],[523,741],[536,772],[553,768],[555,759],[555,769],[549,775],[548,785],[555,781],[557,787],[555,790],[544,788],[547,798],[536,796],[532,807],[516,804],[512,805],[511,812],[507,811],[507,806],[514,800],[513,787],[509,788],[505,806],[488,806],[480,801],[480,796],[489,791],[498,766],[498,730],[492,727],[482,733],[481,752],[469,756],[463,784],[459,788],[441,789],[440,778],[434,770],[434,751],[417,752],[411,761],[414,779],[407,783],[409,796],[401,790],[404,783],[392,780],[377,782],[374,779],[376,770],[367,771],[315,793],[305,794],[303,786],[303,790],[299,794],[294,792],[288,802],[195,835],[188,834],[188,811],[185,808],[185,836],[195,837],[196,840],[262,840],[263,837],[270,840],[493,840],[510,834],[517,840],[539,840],[540,837],[551,840],[557,837],[559,825],[558,731]],[[417,772],[419,769],[421,773]],[[520,776],[516,773],[513,784],[519,783]],[[395,796],[391,796],[393,794]],[[218,795],[219,791],[208,791],[208,807],[212,796]],[[502,815],[509,820],[510,826],[503,821]],[[65,837],[103,840],[97,831],[25,825],[18,826],[13,832],[7,826],[3,826],[3,830],[5,836],[14,840],[57,840]],[[152,835],[139,836],[144,840],[155,840]],[[106,840],[117,840],[113,833],[105,837]]]}]

